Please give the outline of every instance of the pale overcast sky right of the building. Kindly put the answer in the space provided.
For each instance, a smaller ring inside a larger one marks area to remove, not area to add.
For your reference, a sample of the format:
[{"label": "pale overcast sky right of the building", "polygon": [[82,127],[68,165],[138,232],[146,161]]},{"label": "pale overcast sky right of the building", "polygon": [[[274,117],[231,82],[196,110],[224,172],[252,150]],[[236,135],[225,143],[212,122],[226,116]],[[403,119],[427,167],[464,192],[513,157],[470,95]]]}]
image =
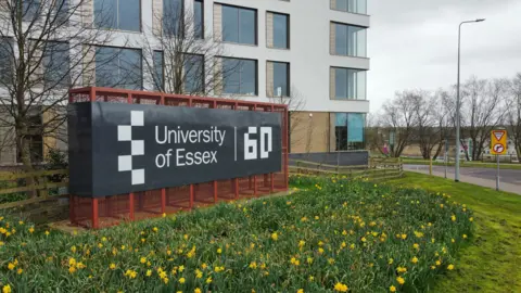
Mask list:
[{"label": "pale overcast sky right of the building", "polygon": [[458,25],[461,80],[521,72],[520,0],[367,0],[368,99],[371,112],[396,90],[435,90],[456,84]]}]

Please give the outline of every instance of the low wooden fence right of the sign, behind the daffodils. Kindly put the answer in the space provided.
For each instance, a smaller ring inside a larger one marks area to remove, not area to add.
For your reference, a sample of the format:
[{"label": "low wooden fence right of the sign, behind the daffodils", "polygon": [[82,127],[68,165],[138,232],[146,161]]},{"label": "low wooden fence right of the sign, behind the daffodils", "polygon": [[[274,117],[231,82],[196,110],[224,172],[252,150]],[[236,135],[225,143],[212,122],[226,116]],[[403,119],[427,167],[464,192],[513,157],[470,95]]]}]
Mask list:
[{"label": "low wooden fence right of the sign, behind the daffodils", "polygon": [[403,163],[399,158],[371,158],[368,165],[339,166],[316,162],[290,160],[290,174],[342,176],[347,179],[385,180],[402,177]]}]

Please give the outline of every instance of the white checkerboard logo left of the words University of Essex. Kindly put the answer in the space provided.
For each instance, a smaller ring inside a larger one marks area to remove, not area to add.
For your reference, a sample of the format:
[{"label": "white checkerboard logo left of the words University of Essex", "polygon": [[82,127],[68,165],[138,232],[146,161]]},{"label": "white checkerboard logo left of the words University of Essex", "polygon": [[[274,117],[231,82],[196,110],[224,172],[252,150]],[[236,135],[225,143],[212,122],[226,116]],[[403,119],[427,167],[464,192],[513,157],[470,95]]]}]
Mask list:
[{"label": "white checkerboard logo left of the words University of Essex", "polygon": [[143,111],[130,111],[130,125],[117,126],[117,141],[130,142],[130,154],[117,156],[117,170],[130,171],[132,186],[144,184],[144,169],[132,168],[132,157],[144,155],[144,140],[132,140],[132,127],[143,124]]}]

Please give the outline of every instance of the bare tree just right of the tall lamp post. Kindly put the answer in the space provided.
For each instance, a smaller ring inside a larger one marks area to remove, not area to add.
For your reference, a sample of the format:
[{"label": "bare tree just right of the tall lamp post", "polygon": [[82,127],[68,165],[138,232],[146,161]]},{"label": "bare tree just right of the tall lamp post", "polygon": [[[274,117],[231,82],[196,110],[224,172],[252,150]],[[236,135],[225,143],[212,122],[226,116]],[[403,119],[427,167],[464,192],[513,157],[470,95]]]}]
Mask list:
[{"label": "bare tree just right of the tall lamp post", "polygon": [[507,86],[508,80],[505,79],[471,77],[462,87],[461,125],[463,137],[467,135],[472,143],[472,161],[481,158],[491,131],[503,122]]}]

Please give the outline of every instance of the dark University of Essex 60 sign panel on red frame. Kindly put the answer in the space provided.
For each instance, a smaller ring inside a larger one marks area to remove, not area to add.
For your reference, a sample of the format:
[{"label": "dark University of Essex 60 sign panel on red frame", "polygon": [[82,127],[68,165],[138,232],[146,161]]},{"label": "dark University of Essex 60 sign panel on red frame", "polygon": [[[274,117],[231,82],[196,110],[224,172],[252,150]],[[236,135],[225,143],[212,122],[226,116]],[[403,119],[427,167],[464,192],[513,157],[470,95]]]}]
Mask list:
[{"label": "dark University of Essex 60 sign panel on red frame", "polygon": [[280,171],[281,115],[74,103],[69,192],[105,196]]}]

